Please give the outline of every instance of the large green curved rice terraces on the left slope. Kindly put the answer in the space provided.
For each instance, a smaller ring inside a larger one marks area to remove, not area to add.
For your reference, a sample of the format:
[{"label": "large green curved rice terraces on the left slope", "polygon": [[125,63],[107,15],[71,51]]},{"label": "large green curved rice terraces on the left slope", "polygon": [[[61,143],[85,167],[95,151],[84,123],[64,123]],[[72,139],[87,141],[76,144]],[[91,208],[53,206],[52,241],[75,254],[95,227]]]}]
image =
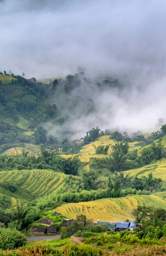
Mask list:
[{"label": "large green curved rice terraces on the left slope", "polygon": [[[53,194],[54,192],[58,191],[58,189],[66,188],[68,186],[64,181],[64,178],[66,178],[68,175],[38,169],[2,171],[0,172],[0,183],[15,182],[21,179],[23,175],[27,174],[28,177],[20,189],[23,189],[25,192],[30,191],[31,194],[36,196]],[[80,180],[81,177],[73,176],[73,179]]]}]

